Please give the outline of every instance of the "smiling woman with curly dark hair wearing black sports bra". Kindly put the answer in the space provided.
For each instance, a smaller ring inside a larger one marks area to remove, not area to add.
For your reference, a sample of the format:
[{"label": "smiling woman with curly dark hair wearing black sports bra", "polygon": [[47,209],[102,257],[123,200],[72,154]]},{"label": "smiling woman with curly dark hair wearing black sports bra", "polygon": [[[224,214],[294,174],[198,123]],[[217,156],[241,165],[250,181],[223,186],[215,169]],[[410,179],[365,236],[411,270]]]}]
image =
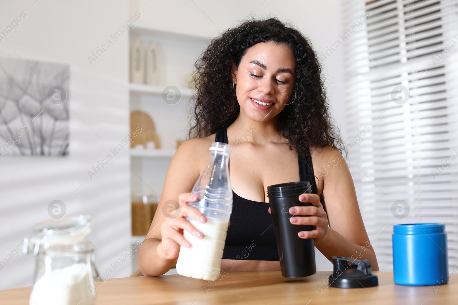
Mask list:
[{"label": "smiling woman with curly dark hair wearing black sports bra", "polygon": [[[140,271],[169,271],[180,246],[191,246],[183,230],[203,237],[185,217],[206,222],[188,203],[197,199],[190,192],[215,140],[232,145],[234,206],[222,269],[252,246],[246,258],[229,267],[232,271],[280,270],[267,186],[310,181],[312,193],[299,200],[313,205],[291,208],[290,222],[316,229],[299,237],[314,238],[330,261],[331,256],[360,257],[378,271],[353,180],[338,149],[342,141],[327,113],[321,68],[307,39],[276,18],[247,21],[214,38],[196,70],[190,130],[195,138],[183,143],[170,163],[158,212],[138,251]],[[166,213],[177,200],[177,214]]]}]

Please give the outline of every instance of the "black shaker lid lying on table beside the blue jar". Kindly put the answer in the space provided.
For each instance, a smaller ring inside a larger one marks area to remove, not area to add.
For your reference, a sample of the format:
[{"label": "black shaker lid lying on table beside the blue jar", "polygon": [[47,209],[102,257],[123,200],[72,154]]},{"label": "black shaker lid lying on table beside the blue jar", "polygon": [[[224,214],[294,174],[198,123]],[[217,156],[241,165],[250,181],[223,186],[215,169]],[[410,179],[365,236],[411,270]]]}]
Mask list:
[{"label": "black shaker lid lying on table beside the blue jar", "polygon": [[[337,288],[363,288],[378,286],[378,278],[372,273],[371,261],[333,256],[334,274],[329,276],[329,286]],[[350,264],[350,262],[352,264]]]}]

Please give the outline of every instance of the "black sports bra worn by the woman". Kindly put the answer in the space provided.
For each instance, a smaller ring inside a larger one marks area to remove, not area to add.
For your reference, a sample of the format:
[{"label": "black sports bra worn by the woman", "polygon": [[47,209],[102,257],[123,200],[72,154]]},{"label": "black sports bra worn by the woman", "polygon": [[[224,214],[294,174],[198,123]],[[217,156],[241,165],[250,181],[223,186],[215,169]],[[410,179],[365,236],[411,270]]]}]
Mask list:
[{"label": "black sports bra worn by the woman", "polygon": [[[216,133],[215,141],[228,143],[227,128]],[[316,194],[310,152],[305,158],[298,157],[298,160],[300,181],[309,181],[312,193]],[[278,261],[272,216],[267,211],[270,204],[241,198],[234,191],[232,194],[233,206],[223,258]]]}]

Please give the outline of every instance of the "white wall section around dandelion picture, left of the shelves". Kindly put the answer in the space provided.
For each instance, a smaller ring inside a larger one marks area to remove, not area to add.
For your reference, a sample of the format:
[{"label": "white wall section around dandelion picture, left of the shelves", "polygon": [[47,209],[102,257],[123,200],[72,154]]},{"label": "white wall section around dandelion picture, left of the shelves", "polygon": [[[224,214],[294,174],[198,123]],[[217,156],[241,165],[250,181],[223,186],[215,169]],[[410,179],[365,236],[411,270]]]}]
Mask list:
[{"label": "white wall section around dandelion picture, left of the shelves", "polygon": [[[70,80],[82,72],[70,83],[70,155],[0,156],[0,260],[32,233],[33,224],[51,219],[48,204],[57,199],[65,203],[66,216],[93,216],[88,239],[98,249],[97,265],[103,273],[130,242],[127,149],[93,180],[87,171],[129,134],[127,33],[97,62],[90,65],[87,57],[125,23],[127,2],[35,1],[1,1],[2,30],[22,11],[27,17],[0,42],[0,56],[17,59],[16,52],[23,60],[70,64]],[[0,270],[0,289],[31,285],[33,268],[32,257],[12,259]],[[130,271],[125,262],[113,276]]]}]

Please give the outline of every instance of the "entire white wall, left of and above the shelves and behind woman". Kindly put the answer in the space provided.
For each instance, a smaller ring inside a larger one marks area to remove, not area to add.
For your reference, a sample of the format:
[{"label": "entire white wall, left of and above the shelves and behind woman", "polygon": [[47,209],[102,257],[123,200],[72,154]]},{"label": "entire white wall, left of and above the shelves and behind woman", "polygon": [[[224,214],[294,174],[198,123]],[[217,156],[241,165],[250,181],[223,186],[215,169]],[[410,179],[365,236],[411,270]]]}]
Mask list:
[{"label": "entire white wall, left of and above the shelves and behind woman", "polygon": [[[70,80],[82,71],[70,85],[70,155],[0,157],[0,260],[31,233],[33,224],[50,219],[47,207],[56,199],[65,203],[67,216],[93,216],[93,233],[88,238],[98,249],[97,266],[101,273],[130,244],[128,151],[115,156],[93,180],[87,175],[129,133],[127,34],[92,65],[87,57],[133,12],[140,11],[141,22],[157,29],[206,36],[217,35],[250,12],[273,13],[281,20],[294,21],[317,51],[326,50],[341,32],[337,0],[150,1],[134,0],[130,5],[127,0],[0,2],[1,29],[21,11],[27,12],[20,27],[0,42],[1,57],[17,59],[14,51],[22,59],[70,64]],[[333,115],[344,126],[340,52],[326,60],[324,72]],[[323,257],[318,257],[317,262],[318,269],[330,270],[330,263],[323,261]],[[33,266],[33,259],[23,254],[12,259],[0,270],[0,289],[16,288],[16,283],[30,285]],[[125,262],[112,277],[128,276],[130,272],[130,263]]]}]

